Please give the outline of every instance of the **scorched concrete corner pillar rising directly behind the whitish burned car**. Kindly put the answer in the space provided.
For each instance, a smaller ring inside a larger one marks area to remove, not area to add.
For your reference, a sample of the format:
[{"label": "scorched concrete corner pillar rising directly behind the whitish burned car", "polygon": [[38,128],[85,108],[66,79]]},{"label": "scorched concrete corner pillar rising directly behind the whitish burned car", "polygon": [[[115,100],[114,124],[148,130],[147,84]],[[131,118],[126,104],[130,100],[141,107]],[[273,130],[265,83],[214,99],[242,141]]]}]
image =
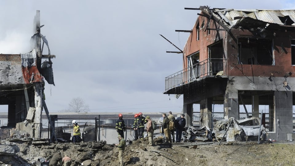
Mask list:
[{"label": "scorched concrete corner pillar rising directly behind the whitish burned car", "polygon": [[238,90],[237,89],[226,89],[223,102],[224,108],[224,119],[234,117],[239,119],[239,103],[238,103]]}]

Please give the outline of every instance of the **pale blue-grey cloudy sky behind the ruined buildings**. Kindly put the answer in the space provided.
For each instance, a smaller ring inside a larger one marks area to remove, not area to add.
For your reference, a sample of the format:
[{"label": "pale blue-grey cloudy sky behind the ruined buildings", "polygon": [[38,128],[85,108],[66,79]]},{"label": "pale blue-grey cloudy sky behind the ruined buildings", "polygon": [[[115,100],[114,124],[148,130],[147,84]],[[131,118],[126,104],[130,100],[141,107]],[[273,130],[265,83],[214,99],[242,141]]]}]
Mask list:
[{"label": "pale blue-grey cloudy sky behind the ruined buildings", "polygon": [[[293,0],[0,1],[0,53],[27,53],[33,18],[49,42],[55,86],[45,81],[49,112],[81,97],[90,112],[181,113],[183,96],[163,94],[165,77],[183,69],[183,49],[199,10],[295,9]],[[46,49],[44,49],[46,50]],[[47,52],[43,52],[47,54]],[[199,109],[195,108],[194,109]],[[222,111],[222,110],[220,110]]]}]

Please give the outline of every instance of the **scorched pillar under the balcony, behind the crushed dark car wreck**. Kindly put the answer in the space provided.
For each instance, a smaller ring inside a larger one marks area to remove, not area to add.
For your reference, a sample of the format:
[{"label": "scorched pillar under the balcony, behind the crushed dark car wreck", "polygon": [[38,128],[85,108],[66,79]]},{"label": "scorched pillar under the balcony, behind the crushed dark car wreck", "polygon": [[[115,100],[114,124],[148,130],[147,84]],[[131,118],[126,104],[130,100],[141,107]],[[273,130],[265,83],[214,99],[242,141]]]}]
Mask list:
[{"label": "scorched pillar under the balcony, behind the crushed dark car wreck", "polygon": [[212,126],[212,99],[207,98],[200,102],[200,114],[202,117],[202,126]]}]

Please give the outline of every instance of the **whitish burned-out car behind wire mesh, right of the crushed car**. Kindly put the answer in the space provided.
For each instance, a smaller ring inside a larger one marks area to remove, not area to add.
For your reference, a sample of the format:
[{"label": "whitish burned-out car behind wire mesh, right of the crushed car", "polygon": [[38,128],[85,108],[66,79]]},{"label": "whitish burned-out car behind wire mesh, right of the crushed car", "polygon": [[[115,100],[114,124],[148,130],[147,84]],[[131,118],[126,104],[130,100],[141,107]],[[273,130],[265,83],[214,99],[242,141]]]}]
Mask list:
[{"label": "whitish burned-out car behind wire mesh, right of the crushed car", "polygon": [[249,141],[258,140],[265,129],[257,117],[236,120],[234,117],[216,121],[213,124],[212,135],[214,140]]}]

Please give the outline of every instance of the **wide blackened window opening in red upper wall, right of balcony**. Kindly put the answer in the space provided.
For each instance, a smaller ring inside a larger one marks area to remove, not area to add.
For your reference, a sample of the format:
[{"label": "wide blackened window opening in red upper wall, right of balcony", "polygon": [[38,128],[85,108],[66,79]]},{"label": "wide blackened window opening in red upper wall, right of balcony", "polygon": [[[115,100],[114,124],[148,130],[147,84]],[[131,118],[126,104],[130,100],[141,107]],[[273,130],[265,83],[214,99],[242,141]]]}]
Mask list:
[{"label": "wide blackened window opening in red upper wall, right of balcony", "polygon": [[274,65],[272,39],[238,38],[238,64]]}]

